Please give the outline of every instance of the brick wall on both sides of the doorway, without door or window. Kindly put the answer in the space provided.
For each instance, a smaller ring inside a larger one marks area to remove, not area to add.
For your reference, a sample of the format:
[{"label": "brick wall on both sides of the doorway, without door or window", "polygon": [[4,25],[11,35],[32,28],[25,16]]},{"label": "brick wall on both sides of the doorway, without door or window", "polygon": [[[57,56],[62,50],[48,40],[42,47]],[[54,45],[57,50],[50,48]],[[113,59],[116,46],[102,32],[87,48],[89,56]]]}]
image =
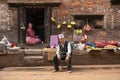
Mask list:
[{"label": "brick wall on both sides of the doorway, without door or window", "polygon": [[[18,42],[18,8],[10,7],[5,1],[6,0],[0,1],[0,39],[2,38],[2,34],[6,34],[10,41]],[[111,5],[110,0],[61,1],[62,4],[59,7],[52,8],[52,16],[56,18],[59,23],[62,23],[64,20],[69,23],[74,20],[74,15],[103,15],[104,28],[101,30],[92,29],[86,33],[88,40],[120,40],[120,35],[118,35],[120,34],[120,6],[114,7]],[[74,29],[67,29],[66,26],[57,29],[54,24],[51,26],[52,34],[65,32],[67,40],[73,40]],[[50,32],[50,30],[47,31]],[[99,36],[99,38],[97,38],[96,35]]]}]

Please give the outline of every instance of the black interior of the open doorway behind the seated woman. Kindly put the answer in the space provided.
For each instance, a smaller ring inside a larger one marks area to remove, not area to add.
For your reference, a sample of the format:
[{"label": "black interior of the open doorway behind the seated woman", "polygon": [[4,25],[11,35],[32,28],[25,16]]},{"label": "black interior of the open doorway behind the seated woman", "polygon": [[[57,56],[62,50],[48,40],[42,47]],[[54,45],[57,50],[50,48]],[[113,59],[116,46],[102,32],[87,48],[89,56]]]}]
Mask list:
[{"label": "black interior of the open doorway behind the seated woman", "polygon": [[44,13],[44,8],[26,8],[26,23],[32,23],[35,35],[42,41],[45,41]]}]

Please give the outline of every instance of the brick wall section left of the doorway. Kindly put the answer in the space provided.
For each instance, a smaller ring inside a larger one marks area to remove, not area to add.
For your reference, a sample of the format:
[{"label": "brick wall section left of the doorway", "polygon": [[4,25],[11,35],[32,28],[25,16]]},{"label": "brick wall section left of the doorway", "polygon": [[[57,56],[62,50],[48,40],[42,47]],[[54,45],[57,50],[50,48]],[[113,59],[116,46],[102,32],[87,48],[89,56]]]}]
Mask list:
[{"label": "brick wall section left of the doorway", "polygon": [[18,40],[17,9],[0,3],[0,40],[5,34],[11,42]]}]

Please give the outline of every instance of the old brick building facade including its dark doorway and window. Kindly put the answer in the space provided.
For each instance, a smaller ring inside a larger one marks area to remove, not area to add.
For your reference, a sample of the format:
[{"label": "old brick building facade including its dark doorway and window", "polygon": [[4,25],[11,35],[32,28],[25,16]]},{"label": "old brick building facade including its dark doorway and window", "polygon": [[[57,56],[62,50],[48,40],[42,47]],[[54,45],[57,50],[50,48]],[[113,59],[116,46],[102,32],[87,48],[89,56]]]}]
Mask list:
[{"label": "old brick building facade including its dark doorway and window", "polygon": [[58,29],[51,17],[58,23],[76,21],[80,27],[87,18],[92,28],[86,33],[89,41],[120,40],[119,0],[0,0],[0,39],[6,34],[11,42],[25,43],[26,30],[22,28],[32,22],[44,42],[62,32],[73,41],[75,28]]}]

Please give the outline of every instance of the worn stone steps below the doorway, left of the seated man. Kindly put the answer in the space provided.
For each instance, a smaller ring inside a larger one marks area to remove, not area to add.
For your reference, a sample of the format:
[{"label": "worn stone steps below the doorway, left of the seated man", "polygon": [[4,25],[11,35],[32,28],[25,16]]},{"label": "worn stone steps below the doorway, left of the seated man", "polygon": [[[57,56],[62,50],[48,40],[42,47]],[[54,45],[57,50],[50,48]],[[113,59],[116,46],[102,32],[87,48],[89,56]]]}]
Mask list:
[{"label": "worn stone steps below the doorway, left of the seated man", "polygon": [[25,65],[39,65],[44,61],[44,52],[42,49],[23,49],[23,61]]}]

